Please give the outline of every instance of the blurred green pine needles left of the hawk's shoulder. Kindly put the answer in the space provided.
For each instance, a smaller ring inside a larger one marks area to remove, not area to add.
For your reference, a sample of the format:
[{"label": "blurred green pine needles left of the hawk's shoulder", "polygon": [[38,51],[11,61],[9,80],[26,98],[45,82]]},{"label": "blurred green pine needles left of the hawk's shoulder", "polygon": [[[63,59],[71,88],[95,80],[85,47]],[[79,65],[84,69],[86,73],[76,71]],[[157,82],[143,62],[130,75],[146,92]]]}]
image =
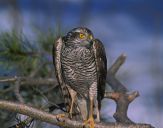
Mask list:
[{"label": "blurred green pine needles left of the hawk's shoulder", "polygon": [[[24,34],[16,32],[0,33],[0,66],[7,70],[15,70],[17,75],[27,76],[40,65],[52,62],[52,45],[57,34],[39,32],[34,41]],[[48,66],[42,70],[41,76],[48,74]]]}]

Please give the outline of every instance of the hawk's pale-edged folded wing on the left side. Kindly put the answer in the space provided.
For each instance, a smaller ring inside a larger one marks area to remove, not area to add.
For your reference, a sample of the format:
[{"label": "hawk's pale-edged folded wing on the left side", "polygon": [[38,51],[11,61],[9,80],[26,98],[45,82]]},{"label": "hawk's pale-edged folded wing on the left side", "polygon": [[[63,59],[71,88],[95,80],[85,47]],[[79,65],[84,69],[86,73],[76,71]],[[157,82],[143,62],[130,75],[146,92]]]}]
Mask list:
[{"label": "hawk's pale-edged folded wing on the left side", "polygon": [[[66,106],[66,111],[69,112],[70,110],[70,105],[71,105],[71,96],[70,92],[68,90],[68,87],[66,83],[64,82],[63,75],[62,75],[62,67],[61,67],[61,52],[62,52],[62,47],[63,47],[63,41],[62,38],[58,38],[54,45],[53,45],[53,64],[55,67],[55,74],[56,78],[58,80],[58,83],[61,88],[61,92],[64,98],[65,106]],[[73,113],[79,114],[79,109],[77,108],[77,105],[74,105]],[[79,119],[79,116],[74,116],[75,119]]]}]

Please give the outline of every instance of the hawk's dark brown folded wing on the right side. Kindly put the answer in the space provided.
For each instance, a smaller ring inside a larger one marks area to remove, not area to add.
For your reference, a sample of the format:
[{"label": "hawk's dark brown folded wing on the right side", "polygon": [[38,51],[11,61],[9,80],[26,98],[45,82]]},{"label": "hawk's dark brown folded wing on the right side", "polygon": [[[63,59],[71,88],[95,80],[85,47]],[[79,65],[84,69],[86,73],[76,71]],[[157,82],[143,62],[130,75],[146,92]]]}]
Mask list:
[{"label": "hawk's dark brown folded wing on the right side", "polygon": [[107,59],[105,48],[98,39],[93,41],[93,50],[95,55],[97,74],[98,74],[98,97],[100,100],[104,97],[105,81],[107,75]]}]

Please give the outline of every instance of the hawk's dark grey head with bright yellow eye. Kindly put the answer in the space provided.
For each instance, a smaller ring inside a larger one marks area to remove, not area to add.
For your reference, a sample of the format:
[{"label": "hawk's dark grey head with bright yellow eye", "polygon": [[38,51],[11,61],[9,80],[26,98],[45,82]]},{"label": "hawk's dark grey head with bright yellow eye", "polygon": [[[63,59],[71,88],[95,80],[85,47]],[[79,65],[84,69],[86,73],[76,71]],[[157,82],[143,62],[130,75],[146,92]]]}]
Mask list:
[{"label": "hawk's dark grey head with bright yellow eye", "polygon": [[90,47],[93,41],[93,33],[85,27],[74,28],[64,37],[67,45]]}]

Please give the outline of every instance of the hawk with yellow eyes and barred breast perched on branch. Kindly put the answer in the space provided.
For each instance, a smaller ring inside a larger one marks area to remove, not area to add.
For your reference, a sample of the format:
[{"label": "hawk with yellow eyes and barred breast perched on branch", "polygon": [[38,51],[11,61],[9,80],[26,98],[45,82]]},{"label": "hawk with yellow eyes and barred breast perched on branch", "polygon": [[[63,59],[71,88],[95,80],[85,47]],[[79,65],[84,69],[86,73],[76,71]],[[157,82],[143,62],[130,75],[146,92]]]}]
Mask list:
[{"label": "hawk with yellow eyes and barred breast perched on branch", "polygon": [[[107,74],[107,58],[102,42],[86,27],[73,28],[54,43],[53,60],[62,93],[67,88],[70,94],[69,114],[72,115],[76,109],[85,115],[80,106],[74,108],[77,99],[84,99],[88,113],[85,117],[82,116],[83,120],[90,128],[94,128],[94,110],[96,120],[100,121]],[[66,94],[63,95],[65,102],[68,101]]]}]

